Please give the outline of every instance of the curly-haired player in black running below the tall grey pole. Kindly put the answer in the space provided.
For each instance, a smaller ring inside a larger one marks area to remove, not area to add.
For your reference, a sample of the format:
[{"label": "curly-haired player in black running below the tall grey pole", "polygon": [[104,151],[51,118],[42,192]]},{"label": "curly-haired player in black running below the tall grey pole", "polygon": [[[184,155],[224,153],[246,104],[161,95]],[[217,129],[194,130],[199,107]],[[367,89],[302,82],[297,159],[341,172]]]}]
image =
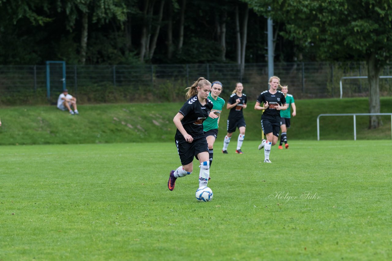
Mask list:
[{"label": "curly-haired player in black running below the tall grey pole", "polygon": [[[274,146],[278,141],[280,130],[280,110],[286,110],[285,95],[278,91],[280,86],[279,77],[272,76],[269,79],[270,89],[262,92],[256,100],[254,105],[255,110],[264,110],[261,115],[261,129],[263,130],[267,140],[263,140],[259,145],[259,149],[264,147],[264,162],[271,163],[269,155],[271,146]],[[263,103],[264,107],[260,104]]]}]

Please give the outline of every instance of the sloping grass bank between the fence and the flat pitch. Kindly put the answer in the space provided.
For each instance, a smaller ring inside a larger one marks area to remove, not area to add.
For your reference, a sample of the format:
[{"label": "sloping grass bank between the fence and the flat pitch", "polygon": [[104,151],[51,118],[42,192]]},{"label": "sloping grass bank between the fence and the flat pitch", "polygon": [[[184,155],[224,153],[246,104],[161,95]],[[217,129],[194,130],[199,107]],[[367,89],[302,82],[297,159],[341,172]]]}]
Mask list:
[{"label": "sloping grass bank between the fence and the flat pitch", "polygon": [[[260,140],[261,112],[251,100],[244,110],[245,140]],[[69,115],[55,106],[1,108],[0,145],[85,144],[118,142],[171,142],[176,128],[172,121],[182,103],[80,104],[80,115]],[[367,98],[311,99],[296,101],[289,140],[316,140],[317,116],[321,113],[368,113]],[[381,98],[381,112],[392,112],[392,97]],[[224,109],[220,137],[226,131],[229,110]],[[391,139],[391,117],[381,117],[384,125],[368,130],[368,116],[357,116],[357,139]],[[238,133],[238,131],[237,131]],[[235,136],[238,134],[235,134]],[[320,138],[354,139],[352,116],[321,117]]]}]

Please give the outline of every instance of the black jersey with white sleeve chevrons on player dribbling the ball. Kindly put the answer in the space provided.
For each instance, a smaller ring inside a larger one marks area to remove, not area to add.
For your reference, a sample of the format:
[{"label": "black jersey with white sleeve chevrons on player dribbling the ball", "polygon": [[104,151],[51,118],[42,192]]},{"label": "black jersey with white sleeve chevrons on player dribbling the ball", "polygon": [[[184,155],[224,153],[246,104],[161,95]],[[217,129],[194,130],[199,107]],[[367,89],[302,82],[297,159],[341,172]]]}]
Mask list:
[{"label": "black jersey with white sleeve chevrons on player dribbling the ball", "polygon": [[[193,139],[205,138],[203,132],[203,121],[207,119],[209,113],[211,112],[212,101],[207,99],[205,105],[201,105],[197,95],[192,96],[180,109],[180,113],[184,115],[181,120],[181,124],[185,131],[192,136]],[[184,139],[184,136],[177,129],[176,140]]]}]

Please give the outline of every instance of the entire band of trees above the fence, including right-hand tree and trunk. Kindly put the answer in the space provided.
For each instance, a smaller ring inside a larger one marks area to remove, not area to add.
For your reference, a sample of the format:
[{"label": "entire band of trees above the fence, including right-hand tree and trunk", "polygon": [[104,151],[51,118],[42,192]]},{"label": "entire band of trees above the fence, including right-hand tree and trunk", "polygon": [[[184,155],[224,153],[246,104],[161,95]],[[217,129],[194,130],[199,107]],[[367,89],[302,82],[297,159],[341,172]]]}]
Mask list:
[{"label": "entire band of trees above the fence, including right-hand tree and trunk", "polygon": [[0,64],[260,63],[268,17],[276,61],[366,61],[379,112],[392,0],[0,0]]}]

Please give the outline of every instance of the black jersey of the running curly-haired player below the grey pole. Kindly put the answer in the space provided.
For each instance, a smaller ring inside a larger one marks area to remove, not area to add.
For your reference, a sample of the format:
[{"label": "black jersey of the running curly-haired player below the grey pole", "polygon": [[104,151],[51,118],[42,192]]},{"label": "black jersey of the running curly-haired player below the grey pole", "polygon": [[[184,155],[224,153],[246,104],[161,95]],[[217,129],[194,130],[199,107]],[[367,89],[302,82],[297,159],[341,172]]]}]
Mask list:
[{"label": "black jersey of the running curly-haired player below the grey pole", "polygon": [[280,122],[280,110],[276,110],[275,106],[278,104],[280,106],[286,104],[286,98],[283,92],[277,91],[276,94],[271,94],[268,90],[266,90],[259,95],[256,101],[260,104],[264,104],[268,101],[269,104],[267,110],[264,110],[261,115],[261,119]]}]

